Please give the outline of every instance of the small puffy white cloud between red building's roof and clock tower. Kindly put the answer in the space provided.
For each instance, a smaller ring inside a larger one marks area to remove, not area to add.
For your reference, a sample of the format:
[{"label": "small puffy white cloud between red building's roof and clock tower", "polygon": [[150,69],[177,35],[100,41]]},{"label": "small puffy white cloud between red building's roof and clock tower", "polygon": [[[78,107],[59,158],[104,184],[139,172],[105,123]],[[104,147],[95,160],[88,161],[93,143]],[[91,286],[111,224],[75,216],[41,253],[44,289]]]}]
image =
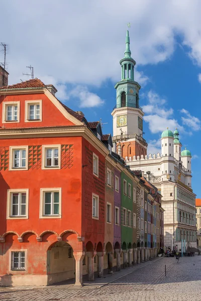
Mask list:
[{"label": "small puffy white cloud between red building's roof and clock tower", "polygon": [[104,104],[104,100],[97,94],[89,92],[86,86],[76,86],[69,92],[69,95],[79,98],[80,108],[91,108]]}]

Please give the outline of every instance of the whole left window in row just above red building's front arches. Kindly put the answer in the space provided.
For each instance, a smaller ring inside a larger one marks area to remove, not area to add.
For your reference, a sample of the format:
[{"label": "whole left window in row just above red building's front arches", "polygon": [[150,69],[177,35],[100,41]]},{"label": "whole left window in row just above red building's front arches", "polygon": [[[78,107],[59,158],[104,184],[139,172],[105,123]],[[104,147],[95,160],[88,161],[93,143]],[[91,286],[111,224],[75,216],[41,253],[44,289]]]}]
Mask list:
[{"label": "whole left window in row just above red building's front arches", "polygon": [[29,189],[8,189],[7,219],[28,219]]}]

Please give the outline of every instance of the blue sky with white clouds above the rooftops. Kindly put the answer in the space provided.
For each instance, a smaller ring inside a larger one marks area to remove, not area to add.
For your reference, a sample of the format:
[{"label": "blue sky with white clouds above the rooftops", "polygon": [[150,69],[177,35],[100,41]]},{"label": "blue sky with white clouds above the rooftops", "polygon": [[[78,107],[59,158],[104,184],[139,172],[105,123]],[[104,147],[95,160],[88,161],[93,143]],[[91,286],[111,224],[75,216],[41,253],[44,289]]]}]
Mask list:
[{"label": "blue sky with white clouds above the rooftops", "polygon": [[9,44],[9,83],[27,80],[22,73],[31,64],[35,77],[54,84],[66,105],[82,110],[87,120],[107,122],[105,133],[112,132],[114,86],[121,78],[119,61],[130,22],[148,153],[159,151],[160,134],[167,126],[177,127],[183,149],[193,156],[192,187],[201,197],[200,1],[192,6],[190,0],[125,0],[122,6],[120,0],[21,0],[1,6],[5,13],[0,42]]}]

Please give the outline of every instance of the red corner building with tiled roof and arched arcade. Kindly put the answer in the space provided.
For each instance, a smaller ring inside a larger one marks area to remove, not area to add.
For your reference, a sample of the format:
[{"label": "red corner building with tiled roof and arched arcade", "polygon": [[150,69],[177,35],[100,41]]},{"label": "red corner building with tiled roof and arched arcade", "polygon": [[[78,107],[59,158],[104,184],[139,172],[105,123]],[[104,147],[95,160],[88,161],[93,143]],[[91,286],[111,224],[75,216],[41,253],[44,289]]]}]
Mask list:
[{"label": "red corner building with tiled roof and arched arcade", "polygon": [[[93,257],[103,271],[107,147],[33,79],[0,88],[0,282],[46,285]],[[73,252],[73,255],[72,255]],[[74,256],[74,257],[73,257]]]}]

